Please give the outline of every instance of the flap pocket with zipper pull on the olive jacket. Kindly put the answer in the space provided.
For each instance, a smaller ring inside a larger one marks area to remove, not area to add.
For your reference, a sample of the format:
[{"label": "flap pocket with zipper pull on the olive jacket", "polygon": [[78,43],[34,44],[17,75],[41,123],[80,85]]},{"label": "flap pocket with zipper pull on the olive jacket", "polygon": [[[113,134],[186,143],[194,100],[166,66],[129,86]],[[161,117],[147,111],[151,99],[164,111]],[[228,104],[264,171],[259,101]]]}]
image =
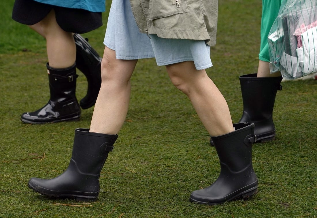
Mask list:
[{"label": "flap pocket with zipper pull on the olive jacket", "polygon": [[189,12],[186,0],[150,0],[147,19],[154,20]]}]

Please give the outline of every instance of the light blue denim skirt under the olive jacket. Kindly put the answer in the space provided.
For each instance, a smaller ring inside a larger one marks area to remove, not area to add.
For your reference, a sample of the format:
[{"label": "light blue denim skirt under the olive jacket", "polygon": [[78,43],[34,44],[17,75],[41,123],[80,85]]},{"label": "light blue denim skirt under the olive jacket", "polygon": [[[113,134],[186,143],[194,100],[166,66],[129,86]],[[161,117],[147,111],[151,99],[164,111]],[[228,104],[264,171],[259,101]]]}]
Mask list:
[{"label": "light blue denim skirt under the olive jacket", "polygon": [[[151,39],[150,39],[150,37]],[[212,66],[210,46],[203,40],[165,39],[139,32],[130,1],[113,0],[104,44],[123,60],[155,57],[159,66],[193,61],[196,69]]]}]

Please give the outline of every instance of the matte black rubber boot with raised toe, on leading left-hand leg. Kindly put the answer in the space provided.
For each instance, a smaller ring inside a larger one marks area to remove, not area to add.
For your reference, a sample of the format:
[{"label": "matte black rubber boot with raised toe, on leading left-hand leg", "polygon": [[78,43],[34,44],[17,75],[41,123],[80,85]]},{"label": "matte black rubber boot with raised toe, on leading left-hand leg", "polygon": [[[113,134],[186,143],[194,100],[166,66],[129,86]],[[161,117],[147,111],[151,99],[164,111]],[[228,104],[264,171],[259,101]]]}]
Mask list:
[{"label": "matte black rubber boot with raised toe, on leading left-hand leg", "polygon": [[73,153],[66,171],[53,179],[33,177],[29,188],[49,197],[95,200],[100,191],[100,171],[117,138],[118,135],[75,129]]}]

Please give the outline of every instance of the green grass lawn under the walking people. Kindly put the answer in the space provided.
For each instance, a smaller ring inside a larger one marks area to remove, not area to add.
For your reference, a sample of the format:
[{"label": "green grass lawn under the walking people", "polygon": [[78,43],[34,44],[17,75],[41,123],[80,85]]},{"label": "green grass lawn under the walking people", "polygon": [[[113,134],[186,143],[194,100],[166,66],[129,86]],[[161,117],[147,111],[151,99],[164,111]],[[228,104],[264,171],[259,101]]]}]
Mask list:
[{"label": "green grass lawn under the walking people", "polygon": [[[0,8],[0,217],[316,217],[317,82],[282,83],[274,109],[277,138],[255,144],[259,193],[248,201],[205,206],[191,191],[219,175],[219,160],[191,103],[154,59],[139,60],[130,110],[100,177],[96,202],[49,199],[29,189],[30,177],[52,178],[68,166],[75,128],[89,128],[93,108],[80,121],[30,125],[23,112],[49,99],[45,40],[11,20],[14,0]],[[242,115],[238,76],[256,72],[260,0],[220,1],[217,45],[208,75],[225,96],[233,122]],[[107,11],[110,1],[107,1]],[[107,24],[83,34],[101,55]],[[87,82],[78,72],[77,98]]]}]

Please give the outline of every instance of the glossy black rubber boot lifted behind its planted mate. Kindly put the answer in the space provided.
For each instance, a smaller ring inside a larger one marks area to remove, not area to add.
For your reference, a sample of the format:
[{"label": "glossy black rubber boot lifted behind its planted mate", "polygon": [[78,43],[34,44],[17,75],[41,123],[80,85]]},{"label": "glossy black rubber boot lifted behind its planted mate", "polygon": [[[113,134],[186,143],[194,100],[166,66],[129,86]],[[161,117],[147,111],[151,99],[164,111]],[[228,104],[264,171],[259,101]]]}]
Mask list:
[{"label": "glossy black rubber boot lifted behind its planted mate", "polygon": [[86,76],[87,94],[79,104],[82,109],[88,109],[96,103],[101,85],[101,60],[102,58],[79,34],[74,34],[76,43],[76,67]]}]

